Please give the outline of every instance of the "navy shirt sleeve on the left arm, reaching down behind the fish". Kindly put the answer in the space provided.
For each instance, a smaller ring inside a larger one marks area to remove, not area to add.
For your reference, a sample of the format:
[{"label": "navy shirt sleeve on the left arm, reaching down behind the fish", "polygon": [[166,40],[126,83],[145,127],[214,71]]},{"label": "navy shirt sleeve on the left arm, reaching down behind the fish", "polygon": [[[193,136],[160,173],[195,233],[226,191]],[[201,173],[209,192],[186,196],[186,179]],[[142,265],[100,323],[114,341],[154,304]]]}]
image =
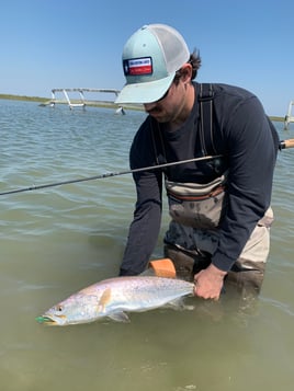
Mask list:
[{"label": "navy shirt sleeve on the left arm, reaching down behind the fish", "polygon": [[[131,169],[154,165],[155,152],[149,131],[140,129],[136,135],[131,152]],[[162,174],[159,170],[149,170],[133,174],[137,203],[134,219],[129,227],[127,243],[121,265],[120,275],[142,273],[156,246],[161,222]]]}]

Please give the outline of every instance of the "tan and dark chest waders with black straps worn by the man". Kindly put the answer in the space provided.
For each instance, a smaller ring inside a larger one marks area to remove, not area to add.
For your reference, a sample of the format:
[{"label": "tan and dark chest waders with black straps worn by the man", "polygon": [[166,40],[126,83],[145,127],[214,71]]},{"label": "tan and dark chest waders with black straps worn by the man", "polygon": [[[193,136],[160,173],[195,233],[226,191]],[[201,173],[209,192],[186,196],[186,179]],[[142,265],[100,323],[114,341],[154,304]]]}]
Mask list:
[{"label": "tan and dark chest waders with black straps worn by the man", "polygon": [[[200,84],[199,122],[194,130],[199,133],[202,156],[212,157],[219,154],[214,142],[213,100],[213,85]],[[157,163],[160,164],[162,159],[166,161],[163,140],[160,131],[156,135],[152,131],[152,135]],[[161,147],[162,154],[158,153],[156,145]],[[219,158],[214,159],[213,164],[216,168],[216,177],[207,184],[172,182],[165,173],[169,214],[172,219],[165,237],[165,256],[173,261],[177,274],[186,279],[193,279],[195,273],[210,265],[211,255],[218,245],[217,227],[226,214],[228,170],[218,172],[217,168],[222,166]],[[237,285],[241,290],[249,287],[250,290],[252,288],[253,291],[259,291],[261,287],[272,220],[273,214],[269,208],[228,272],[227,281]]]}]

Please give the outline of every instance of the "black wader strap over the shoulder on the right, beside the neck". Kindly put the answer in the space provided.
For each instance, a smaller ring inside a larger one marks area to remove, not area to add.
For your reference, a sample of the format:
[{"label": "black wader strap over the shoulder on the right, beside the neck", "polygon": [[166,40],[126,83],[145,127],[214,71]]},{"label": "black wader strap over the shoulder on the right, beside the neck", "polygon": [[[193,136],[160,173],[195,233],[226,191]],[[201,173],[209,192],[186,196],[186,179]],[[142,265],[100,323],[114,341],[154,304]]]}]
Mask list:
[{"label": "black wader strap over the shoulder on the right, beside the neck", "polygon": [[213,84],[200,84],[200,91],[197,94],[200,114],[199,131],[203,156],[217,154],[217,150],[214,145],[213,99]]}]

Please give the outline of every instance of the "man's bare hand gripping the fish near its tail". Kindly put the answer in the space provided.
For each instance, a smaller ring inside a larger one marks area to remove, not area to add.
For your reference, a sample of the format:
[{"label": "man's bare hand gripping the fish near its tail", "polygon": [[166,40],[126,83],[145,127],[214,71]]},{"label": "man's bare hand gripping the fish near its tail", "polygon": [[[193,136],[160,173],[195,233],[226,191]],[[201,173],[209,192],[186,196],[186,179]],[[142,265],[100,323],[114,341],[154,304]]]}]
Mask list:
[{"label": "man's bare hand gripping the fish near its tail", "polygon": [[218,300],[226,274],[214,265],[199,272],[194,275],[194,295],[203,299]]}]

